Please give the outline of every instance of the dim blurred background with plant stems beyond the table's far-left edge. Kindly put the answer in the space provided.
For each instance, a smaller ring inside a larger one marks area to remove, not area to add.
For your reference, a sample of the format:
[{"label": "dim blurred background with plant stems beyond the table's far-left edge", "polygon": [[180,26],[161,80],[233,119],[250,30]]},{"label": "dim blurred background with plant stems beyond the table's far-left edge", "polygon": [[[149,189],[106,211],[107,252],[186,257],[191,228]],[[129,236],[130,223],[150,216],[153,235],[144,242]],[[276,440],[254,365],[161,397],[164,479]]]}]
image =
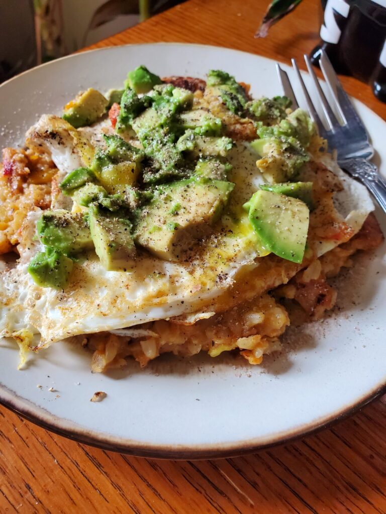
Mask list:
[{"label": "dim blurred background with plant stems beyond the table's far-left edge", "polygon": [[0,83],[184,0],[0,0]]}]

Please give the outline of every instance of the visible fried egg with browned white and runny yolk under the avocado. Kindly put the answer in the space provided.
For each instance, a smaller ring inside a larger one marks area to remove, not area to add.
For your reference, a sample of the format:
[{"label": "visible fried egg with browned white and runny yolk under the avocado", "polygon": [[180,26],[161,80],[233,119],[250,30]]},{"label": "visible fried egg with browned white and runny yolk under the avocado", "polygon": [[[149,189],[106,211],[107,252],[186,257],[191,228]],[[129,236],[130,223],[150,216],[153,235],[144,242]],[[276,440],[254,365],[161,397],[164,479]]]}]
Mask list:
[{"label": "visible fried egg with browned white and runny yolk under the avocado", "polygon": [[[63,177],[90,164],[100,132],[107,130],[104,122],[76,130],[61,118],[46,115],[28,131],[27,140],[51,154]],[[229,180],[235,183],[230,214],[223,216],[221,227],[198,244],[186,262],[163,261],[144,251],[129,271],[107,271],[95,252],[90,252],[74,264],[65,290],[42,288],[27,272],[30,258],[43,249],[35,236],[40,212],[29,213],[22,229],[21,259],[14,266],[3,265],[1,273],[0,336],[15,337],[28,331],[35,336],[37,347],[44,347],[79,334],[118,330],[182,315],[194,318],[194,313],[207,310],[207,306],[211,313],[215,312],[216,299],[234,287],[238,277],[245,279],[245,274],[271,259],[240,207],[264,183],[256,167],[256,155],[247,142],[238,142],[229,160],[233,164]],[[330,157],[322,161],[344,182],[344,190],[337,192],[335,198],[337,219],[344,220],[354,235],[374,209],[371,197]],[[317,255],[341,242],[323,238]],[[283,261],[283,267],[287,264]],[[293,269],[294,274],[299,265]]]}]

